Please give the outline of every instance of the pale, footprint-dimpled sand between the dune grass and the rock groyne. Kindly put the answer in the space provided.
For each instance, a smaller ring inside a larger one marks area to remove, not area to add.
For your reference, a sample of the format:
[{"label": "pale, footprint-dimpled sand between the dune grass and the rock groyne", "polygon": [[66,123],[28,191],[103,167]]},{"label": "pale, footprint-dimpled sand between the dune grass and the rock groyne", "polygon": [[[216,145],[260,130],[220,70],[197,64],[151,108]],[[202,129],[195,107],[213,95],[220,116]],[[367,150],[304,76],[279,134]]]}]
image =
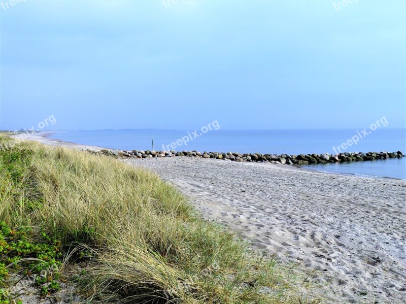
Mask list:
[{"label": "pale, footprint-dimpled sand between the dune grass and the rock groyne", "polygon": [[317,269],[328,302],[406,302],[406,181],[192,157],[128,159],[266,254]]}]

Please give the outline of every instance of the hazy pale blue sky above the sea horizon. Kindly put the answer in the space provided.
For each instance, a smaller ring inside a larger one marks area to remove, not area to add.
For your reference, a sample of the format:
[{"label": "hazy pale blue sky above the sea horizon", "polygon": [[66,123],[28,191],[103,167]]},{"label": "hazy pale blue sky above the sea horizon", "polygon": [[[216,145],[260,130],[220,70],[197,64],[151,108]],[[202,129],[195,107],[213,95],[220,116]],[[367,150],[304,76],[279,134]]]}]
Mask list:
[{"label": "hazy pale blue sky above the sea horizon", "polygon": [[405,127],[406,1],[347,1],[3,0],[0,128]]}]

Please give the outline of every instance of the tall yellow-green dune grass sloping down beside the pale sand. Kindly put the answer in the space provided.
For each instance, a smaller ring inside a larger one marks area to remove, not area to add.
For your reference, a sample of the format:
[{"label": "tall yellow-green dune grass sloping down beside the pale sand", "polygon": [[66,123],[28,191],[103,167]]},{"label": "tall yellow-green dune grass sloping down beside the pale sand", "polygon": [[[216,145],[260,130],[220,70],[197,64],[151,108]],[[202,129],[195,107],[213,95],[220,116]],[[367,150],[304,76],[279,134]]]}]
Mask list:
[{"label": "tall yellow-green dune grass sloping down beside the pale sand", "polygon": [[318,301],[307,278],[203,220],[153,173],[32,142],[0,151],[0,171],[0,221],[45,231],[67,261],[81,245],[89,302]]}]

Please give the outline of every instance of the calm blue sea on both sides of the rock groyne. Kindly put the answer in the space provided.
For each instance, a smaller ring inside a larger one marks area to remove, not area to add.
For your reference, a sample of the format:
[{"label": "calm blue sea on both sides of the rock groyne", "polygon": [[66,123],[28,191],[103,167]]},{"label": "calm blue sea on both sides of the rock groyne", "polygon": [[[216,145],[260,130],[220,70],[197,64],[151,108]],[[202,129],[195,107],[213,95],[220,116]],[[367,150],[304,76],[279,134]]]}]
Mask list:
[{"label": "calm blue sea on both sides of the rock groyne", "polygon": [[[191,138],[189,134],[191,134]],[[201,135],[200,135],[201,134]],[[353,129],[334,130],[210,130],[207,133],[182,130],[66,131],[51,138],[78,144],[121,150],[196,150],[239,153],[329,153],[357,134]],[[184,139],[184,141],[182,140]],[[188,138],[188,142],[186,142]],[[179,145],[180,144],[180,145]],[[337,150],[337,149],[336,149]],[[406,129],[377,129],[342,152],[402,151],[406,153]],[[406,179],[406,157],[353,163],[316,164],[313,170],[370,177]]]}]

